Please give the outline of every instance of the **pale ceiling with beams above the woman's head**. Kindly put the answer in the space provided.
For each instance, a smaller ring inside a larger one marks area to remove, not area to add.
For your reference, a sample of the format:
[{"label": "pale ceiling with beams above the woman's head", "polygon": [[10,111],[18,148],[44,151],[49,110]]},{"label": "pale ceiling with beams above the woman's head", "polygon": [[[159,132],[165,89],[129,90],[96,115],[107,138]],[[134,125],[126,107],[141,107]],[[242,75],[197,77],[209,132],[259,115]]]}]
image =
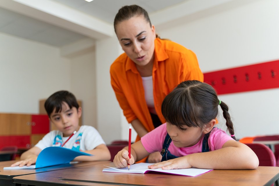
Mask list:
[{"label": "pale ceiling with beams above the woman's head", "polygon": [[253,1],[0,0],[0,33],[67,48],[66,51],[77,45],[82,50],[96,40],[115,36],[114,17],[125,5],[143,7],[158,31]]}]

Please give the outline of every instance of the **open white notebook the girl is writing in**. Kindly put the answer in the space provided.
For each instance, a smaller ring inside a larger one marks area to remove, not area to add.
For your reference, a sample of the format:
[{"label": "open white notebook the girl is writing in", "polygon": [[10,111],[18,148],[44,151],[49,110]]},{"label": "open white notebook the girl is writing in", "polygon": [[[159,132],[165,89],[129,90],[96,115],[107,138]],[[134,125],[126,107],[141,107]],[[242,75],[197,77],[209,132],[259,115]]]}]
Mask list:
[{"label": "open white notebook the girl is writing in", "polygon": [[[200,174],[204,174],[208,171],[212,171],[213,169],[197,169],[197,168],[189,168],[189,169],[171,169],[171,170],[163,170],[163,169],[149,169],[148,166],[154,163],[136,163],[130,165],[130,170],[128,167],[125,168],[117,168],[117,167],[108,167],[104,168],[103,172],[119,172],[119,173],[139,173],[145,174],[151,171],[162,172],[167,174],[175,174],[181,176],[198,176]],[[107,167],[107,166],[106,166]]]}]

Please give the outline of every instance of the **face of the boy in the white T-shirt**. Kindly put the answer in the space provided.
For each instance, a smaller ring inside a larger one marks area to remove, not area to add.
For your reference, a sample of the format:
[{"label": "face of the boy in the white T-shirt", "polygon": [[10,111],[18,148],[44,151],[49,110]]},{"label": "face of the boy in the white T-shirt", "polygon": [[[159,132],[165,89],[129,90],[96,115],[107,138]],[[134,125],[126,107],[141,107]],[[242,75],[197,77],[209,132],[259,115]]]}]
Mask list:
[{"label": "face of the boy in the white T-shirt", "polygon": [[78,119],[81,117],[81,107],[76,109],[65,102],[62,103],[61,112],[55,113],[56,109],[50,114],[50,119],[58,130],[63,133],[64,137],[70,136],[75,130],[78,131]]}]

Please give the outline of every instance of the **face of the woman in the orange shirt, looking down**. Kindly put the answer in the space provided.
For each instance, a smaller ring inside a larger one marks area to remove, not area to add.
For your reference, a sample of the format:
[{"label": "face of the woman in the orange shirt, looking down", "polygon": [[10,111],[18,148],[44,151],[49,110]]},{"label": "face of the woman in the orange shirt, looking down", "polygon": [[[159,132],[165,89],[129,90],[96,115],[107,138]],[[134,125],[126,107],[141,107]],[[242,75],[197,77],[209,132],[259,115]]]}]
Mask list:
[{"label": "face of the woman in the orange shirt, looking down", "polygon": [[136,65],[147,65],[154,56],[155,27],[144,16],[134,16],[115,27],[119,43]]}]

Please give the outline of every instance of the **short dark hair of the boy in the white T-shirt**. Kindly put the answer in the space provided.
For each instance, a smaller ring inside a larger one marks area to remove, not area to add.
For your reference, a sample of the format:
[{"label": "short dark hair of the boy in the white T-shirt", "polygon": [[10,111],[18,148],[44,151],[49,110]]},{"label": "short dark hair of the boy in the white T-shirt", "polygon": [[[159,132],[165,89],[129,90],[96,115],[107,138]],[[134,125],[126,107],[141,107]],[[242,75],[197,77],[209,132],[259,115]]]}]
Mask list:
[{"label": "short dark hair of the boy in the white T-shirt", "polygon": [[53,93],[44,103],[44,108],[47,111],[47,115],[53,112],[55,109],[55,113],[61,112],[62,110],[62,102],[65,102],[69,105],[70,108],[76,107],[79,108],[78,102],[76,101],[76,97],[71,92],[66,90],[61,90]]}]

